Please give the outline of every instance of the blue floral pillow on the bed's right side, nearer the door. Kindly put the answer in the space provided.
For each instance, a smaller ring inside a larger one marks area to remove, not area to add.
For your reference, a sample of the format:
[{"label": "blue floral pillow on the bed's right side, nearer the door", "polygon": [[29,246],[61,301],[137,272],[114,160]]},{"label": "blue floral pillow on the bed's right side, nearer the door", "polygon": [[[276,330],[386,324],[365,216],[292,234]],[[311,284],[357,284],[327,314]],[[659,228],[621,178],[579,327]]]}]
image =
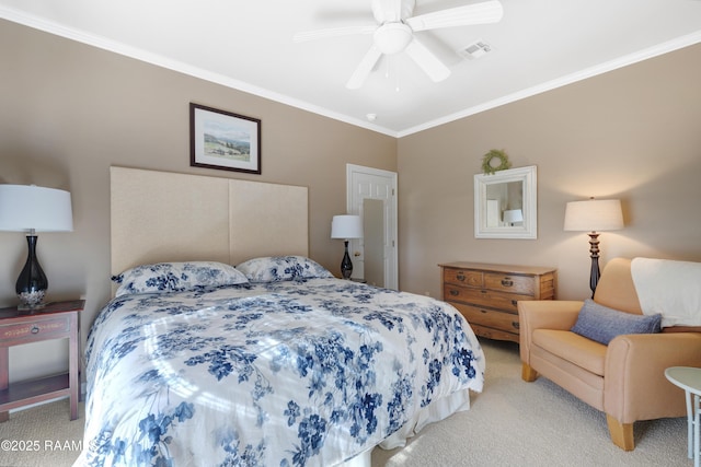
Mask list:
[{"label": "blue floral pillow on the bed's right side, nearer the door", "polygon": [[332,278],[320,264],[304,256],[265,256],[237,266],[251,282],[276,282],[313,278]]}]

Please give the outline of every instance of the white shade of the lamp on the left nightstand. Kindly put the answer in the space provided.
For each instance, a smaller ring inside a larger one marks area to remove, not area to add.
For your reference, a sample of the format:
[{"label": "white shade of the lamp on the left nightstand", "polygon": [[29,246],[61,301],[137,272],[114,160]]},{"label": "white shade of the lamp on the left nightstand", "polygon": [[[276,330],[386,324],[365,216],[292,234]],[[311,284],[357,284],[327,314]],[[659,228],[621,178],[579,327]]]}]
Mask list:
[{"label": "white shade of the lamp on the left nightstand", "polygon": [[70,232],[70,192],[35,185],[0,185],[0,231]]}]

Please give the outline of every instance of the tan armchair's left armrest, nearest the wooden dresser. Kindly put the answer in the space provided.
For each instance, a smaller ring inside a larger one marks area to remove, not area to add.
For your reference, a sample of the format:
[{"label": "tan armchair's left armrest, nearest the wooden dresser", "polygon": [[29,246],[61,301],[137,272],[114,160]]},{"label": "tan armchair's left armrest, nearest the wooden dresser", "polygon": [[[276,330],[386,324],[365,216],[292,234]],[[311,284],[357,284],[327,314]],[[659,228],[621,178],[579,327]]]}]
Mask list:
[{"label": "tan armchair's left armrest, nearest the wooden dresser", "polygon": [[536,329],[568,330],[577,322],[584,302],[571,300],[519,301],[519,350],[521,361],[530,364],[530,342]]}]

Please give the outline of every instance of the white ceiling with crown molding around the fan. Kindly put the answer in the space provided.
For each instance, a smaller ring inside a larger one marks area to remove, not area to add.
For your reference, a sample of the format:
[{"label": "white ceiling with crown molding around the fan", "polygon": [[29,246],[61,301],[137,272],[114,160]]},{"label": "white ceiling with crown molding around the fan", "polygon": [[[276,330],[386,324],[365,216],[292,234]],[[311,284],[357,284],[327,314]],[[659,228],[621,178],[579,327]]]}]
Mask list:
[{"label": "white ceiling with crown molding around the fan", "polygon": [[[475,1],[417,0],[414,14]],[[345,83],[371,35],[292,36],[372,25],[370,0],[0,0],[0,17],[394,137],[701,43],[699,0],[502,4],[498,24],[416,33],[447,80],[434,83],[402,52],[353,91]],[[476,39],[493,50],[457,54]]]}]

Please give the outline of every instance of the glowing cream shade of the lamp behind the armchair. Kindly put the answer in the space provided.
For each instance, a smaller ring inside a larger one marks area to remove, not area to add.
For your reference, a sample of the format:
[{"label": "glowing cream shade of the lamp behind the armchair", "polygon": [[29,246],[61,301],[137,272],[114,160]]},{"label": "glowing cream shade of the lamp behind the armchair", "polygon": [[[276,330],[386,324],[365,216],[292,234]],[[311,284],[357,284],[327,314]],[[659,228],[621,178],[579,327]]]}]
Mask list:
[{"label": "glowing cream shade of the lamp behind the armchair", "polygon": [[567,202],[565,231],[601,232],[623,229],[619,199],[589,199]]}]

